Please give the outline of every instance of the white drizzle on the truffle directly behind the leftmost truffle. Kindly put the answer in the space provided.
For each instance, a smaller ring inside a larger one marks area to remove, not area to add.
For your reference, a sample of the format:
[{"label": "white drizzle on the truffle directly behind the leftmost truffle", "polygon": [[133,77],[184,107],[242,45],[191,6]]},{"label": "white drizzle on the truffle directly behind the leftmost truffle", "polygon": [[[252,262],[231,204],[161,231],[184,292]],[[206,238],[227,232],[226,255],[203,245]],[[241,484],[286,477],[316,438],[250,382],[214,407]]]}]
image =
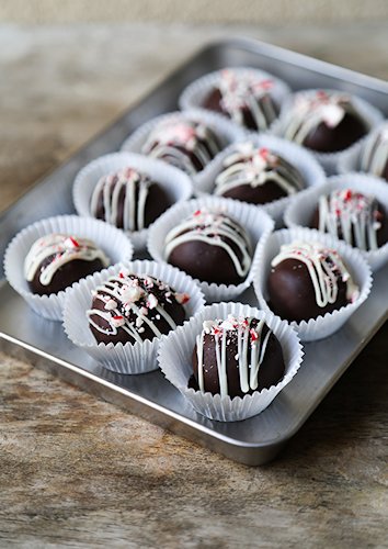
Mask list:
[{"label": "white drizzle on the truffle directly behind the leftmost truffle", "polygon": [[[133,168],[103,176],[91,197],[91,214],[93,217],[98,216],[99,203],[102,200],[103,219],[106,223],[116,227],[122,224],[124,231],[141,231],[145,228],[146,202],[151,184],[145,173]],[[124,203],[121,216],[122,202]]]}]

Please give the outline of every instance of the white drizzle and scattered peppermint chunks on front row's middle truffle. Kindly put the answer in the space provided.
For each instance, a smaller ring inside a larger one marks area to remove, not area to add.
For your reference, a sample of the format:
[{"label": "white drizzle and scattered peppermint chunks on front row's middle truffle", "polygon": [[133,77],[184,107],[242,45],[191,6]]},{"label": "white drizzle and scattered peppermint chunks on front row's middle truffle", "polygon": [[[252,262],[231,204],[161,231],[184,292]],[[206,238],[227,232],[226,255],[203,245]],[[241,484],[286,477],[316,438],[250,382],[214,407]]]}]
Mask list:
[{"label": "white drizzle and scattered peppermint chunks on front row's middle truffle", "polygon": [[[190,296],[174,292],[167,283],[152,277],[132,274],[122,270],[116,277],[111,277],[99,285],[93,291],[93,299],[94,303],[101,302],[104,306],[103,310],[94,307],[87,311],[91,326],[111,336],[117,335],[122,329],[135,341],[141,343],[145,326],[150,328],[153,336],[162,335],[158,328],[158,321],[161,318],[174,329],[176,324],[166,311],[166,303],[183,304]],[[94,317],[102,318],[107,326],[102,326]]]}]

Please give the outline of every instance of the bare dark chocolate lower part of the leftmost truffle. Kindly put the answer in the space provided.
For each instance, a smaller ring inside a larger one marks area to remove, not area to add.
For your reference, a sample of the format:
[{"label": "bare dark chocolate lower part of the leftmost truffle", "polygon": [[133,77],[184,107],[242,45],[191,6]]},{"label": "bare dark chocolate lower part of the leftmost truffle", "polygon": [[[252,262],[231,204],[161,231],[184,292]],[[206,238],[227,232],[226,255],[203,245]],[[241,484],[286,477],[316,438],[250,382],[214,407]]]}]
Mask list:
[{"label": "bare dark chocolate lower part of the leftmost truffle", "polygon": [[94,259],[93,261],[73,259],[59,267],[59,269],[57,269],[54,273],[50,283],[43,285],[39,282],[42,269],[49,265],[54,257],[55,256],[49,256],[42,261],[36,269],[33,280],[28,282],[28,287],[33,293],[37,293],[38,295],[58,293],[61,290],[66,290],[66,288],[70,287],[75,282],[78,282],[81,278],[88,277],[88,274],[92,274],[93,272],[100,271],[104,268],[104,265],[100,259]]}]

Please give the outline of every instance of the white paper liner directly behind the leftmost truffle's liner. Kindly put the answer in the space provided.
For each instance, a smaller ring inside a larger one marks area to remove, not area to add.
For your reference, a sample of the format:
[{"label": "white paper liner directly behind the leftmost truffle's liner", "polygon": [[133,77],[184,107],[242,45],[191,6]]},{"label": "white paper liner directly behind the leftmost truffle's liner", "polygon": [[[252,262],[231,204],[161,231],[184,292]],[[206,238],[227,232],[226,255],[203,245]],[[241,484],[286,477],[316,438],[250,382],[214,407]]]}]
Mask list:
[{"label": "white paper liner directly behind the leftmost truffle's liner", "polygon": [[[162,187],[171,204],[187,200],[193,193],[192,181],[183,171],[161,160],[130,153],[114,153],[101,156],[78,172],[72,188],[72,198],[79,215],[91,217],[90,201],[100,178],[123,168],[133,167],[150,177]],[[127,231],[136,250],[145,249],[149,227]]]}]

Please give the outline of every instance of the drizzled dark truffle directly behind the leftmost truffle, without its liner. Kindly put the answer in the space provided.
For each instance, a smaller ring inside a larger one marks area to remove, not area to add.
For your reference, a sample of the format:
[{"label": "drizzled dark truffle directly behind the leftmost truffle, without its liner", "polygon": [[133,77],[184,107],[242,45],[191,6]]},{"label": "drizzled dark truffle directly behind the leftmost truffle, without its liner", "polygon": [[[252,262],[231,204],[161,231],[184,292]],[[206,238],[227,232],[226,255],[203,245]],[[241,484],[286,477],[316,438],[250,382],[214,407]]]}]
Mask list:
[{"label": "drizzled dark truffle directly behind the leftmost truffle, without its liner", "polygon": [[93,217],[133,232],[148,227],[169,205],[160,184],[134,168],[125,168],[100,179],[90,211]]}]

